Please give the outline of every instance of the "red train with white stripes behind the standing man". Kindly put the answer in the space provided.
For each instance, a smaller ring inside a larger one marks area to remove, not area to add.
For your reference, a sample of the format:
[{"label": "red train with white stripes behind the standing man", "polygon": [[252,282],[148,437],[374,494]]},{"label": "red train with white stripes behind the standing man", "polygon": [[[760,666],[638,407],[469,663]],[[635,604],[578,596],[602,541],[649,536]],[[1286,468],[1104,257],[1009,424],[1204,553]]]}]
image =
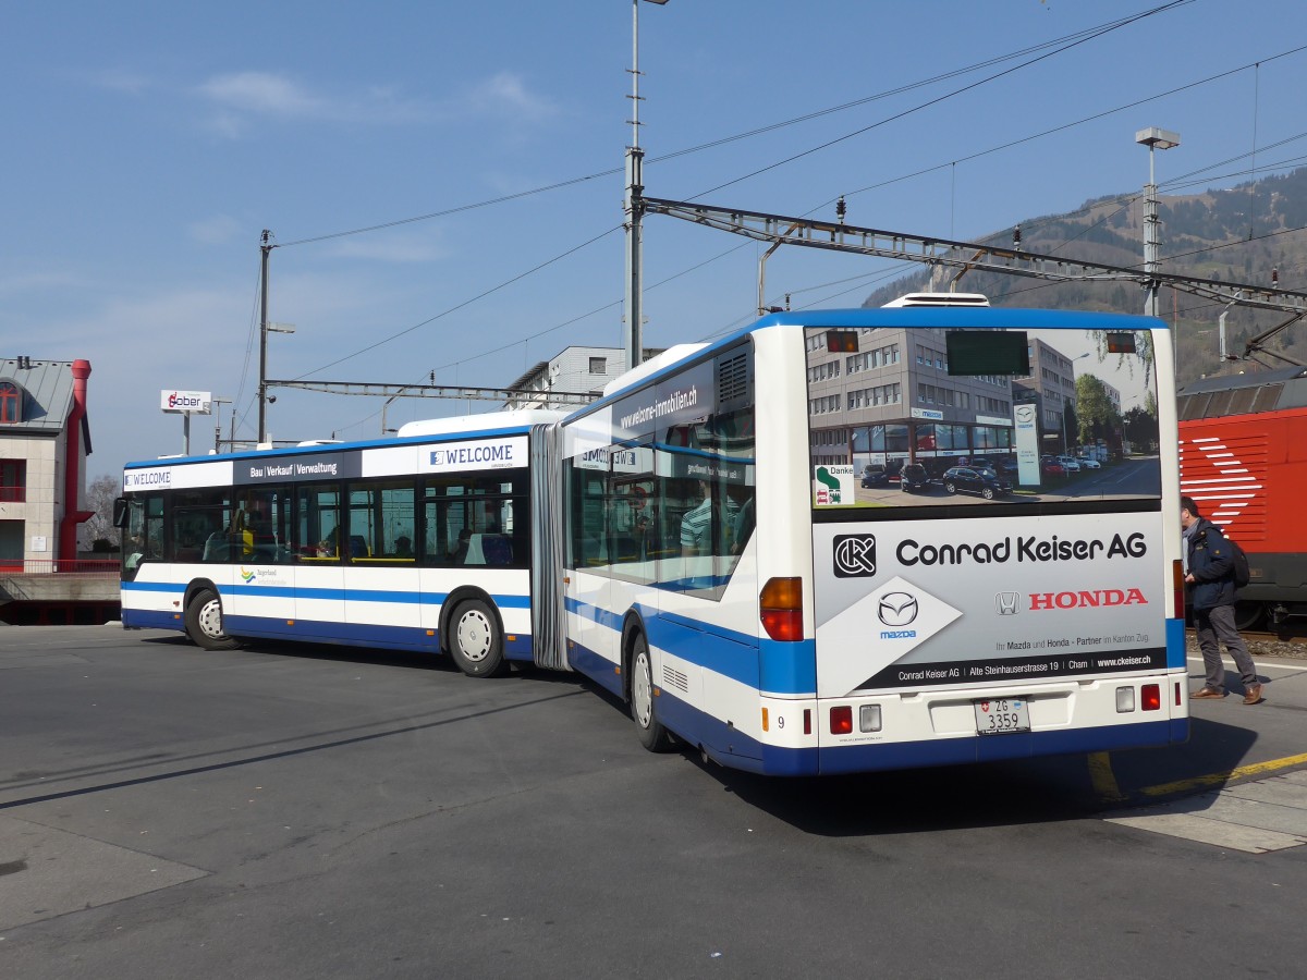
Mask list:
[{"label": "red train with white stripes behind the standing man", "polygon": [[1307,367],[1178,393],[1180,490],[1248,553],[1238,623],[1307,617]]}]

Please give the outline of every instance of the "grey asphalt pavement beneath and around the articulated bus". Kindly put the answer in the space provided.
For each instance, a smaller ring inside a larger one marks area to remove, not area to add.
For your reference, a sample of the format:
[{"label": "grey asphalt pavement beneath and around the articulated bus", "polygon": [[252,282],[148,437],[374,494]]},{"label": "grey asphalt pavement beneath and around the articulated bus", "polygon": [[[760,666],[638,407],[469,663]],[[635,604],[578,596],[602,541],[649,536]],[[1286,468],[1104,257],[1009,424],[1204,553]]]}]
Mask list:
[{"label": "grey asphalt pavement beneath and around the articulated bus", "polygon": [[1259,669],[1185,746],[776,780],[571,674],[0,629],[0,971],[1297,976],[1307,662]]}]

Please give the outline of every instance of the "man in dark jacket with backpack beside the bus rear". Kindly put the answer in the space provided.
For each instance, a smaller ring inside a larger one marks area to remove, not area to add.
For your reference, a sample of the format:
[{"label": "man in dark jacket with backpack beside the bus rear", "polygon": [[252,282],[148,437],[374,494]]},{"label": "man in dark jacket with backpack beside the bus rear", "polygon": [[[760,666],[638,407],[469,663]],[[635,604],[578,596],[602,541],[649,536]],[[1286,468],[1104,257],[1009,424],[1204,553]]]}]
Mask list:
[{"label": "man in dark jacket with backpack beside the bus rear", "polygon": [[1223,698],[1223,643],[1243,679],[1243,703],[1261,700],[1261,682],[1248,647],[1234,626],[1234,555],[1221,528],[1199,512],[1191,497],[1180,498],[1180,527],[1184,541],[1184,584],[1193,608],[1193,625],[1206,668],[1206,683],[1191,698]]}]

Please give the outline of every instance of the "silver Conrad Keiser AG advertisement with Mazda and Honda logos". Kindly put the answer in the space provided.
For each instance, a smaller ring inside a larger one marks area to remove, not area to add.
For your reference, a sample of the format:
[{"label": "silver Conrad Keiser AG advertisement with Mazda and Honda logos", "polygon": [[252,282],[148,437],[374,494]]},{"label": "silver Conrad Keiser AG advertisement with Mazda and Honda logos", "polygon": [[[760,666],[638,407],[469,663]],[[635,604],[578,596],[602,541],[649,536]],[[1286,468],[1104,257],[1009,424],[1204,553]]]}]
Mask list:
[{"label": "silver Conrad Keiser AG advertisement with Mazda and Honda logos", "polygon": [[821,696],[1166,666],[1157,512],[813,532]]}]

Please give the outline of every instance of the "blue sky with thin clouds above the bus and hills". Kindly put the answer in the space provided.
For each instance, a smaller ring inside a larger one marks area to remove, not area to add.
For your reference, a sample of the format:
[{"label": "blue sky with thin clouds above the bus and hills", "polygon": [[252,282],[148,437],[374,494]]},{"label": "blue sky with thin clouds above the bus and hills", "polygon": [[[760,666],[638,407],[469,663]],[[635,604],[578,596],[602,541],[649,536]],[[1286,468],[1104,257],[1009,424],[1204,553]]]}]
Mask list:
[{"label": "blue sky with thin clouds above the bus and hills", "polygon": [[[652,197],[831,220],[843,195],[850,225],[979,240],[1138,193],[1146,127],[1182,137],[1163,193],[1307,154],[1300,0],[638,12]],[[233,402],[192,452],[233,408],[250,439],[264,229],[295,329],[269,378],[499,387],[621,348],[631,34],[631,0],[8,4],[0,355],[90,361],[89,477],[183,449],[163,389]],[[763,251],[650,216],[646,345],[746,325]],[[856,307],[911,270],[786,248],[767,301]],[[382,433],[383,399],[271,393],[273,439]],[[497,405],[400,399],[384,426],[469,408]]]}]

